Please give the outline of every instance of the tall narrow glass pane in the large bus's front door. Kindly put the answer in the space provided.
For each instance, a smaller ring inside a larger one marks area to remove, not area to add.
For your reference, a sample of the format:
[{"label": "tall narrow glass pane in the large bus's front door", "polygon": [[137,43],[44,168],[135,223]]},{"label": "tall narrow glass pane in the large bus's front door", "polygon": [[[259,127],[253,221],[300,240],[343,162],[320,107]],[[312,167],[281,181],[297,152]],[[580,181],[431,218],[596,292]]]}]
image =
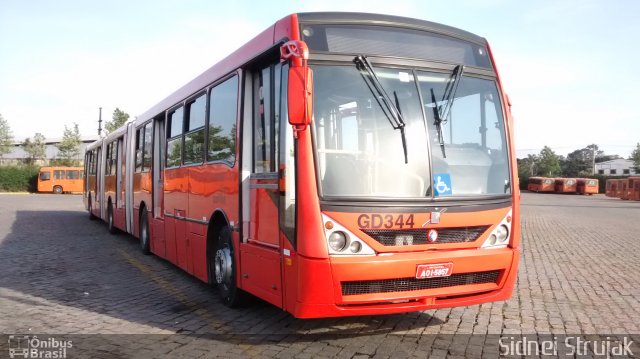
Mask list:
[{"label": "tall narrow glass pane in the large bus's front door", "polygon": [[273,113],[271,106],[271,66],[258,71],[253,79],[253,171],[255,173],[273,172],[273,147],[271,139],[274,137]]}]

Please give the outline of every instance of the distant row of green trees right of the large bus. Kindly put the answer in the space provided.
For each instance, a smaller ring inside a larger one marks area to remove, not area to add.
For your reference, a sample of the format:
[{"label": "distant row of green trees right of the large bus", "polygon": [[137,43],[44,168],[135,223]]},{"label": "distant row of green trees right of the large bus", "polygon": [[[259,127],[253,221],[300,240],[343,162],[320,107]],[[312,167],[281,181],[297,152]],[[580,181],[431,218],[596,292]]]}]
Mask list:
[{"label": "distant row of green trees right of the large bus", "polygon": [[[520,178],[542,177],[590,177],[594,175],[596,163],[620,159],[618,155],[605,155],[598,145],[591,144],[569,153],[566,157],[557,155],[550,147],[544,146],[539,154],[518,159]],[[640,143],[629,157],[636,172],[640,172]]]}]

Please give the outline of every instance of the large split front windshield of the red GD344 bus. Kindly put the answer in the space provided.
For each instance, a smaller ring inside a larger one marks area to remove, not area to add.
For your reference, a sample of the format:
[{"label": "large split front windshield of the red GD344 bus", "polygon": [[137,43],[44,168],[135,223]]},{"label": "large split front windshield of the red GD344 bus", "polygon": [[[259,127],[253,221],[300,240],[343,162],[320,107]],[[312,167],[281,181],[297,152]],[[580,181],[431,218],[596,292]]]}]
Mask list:
[{"label": "large split front windshield of the red GD344 bus", "polygon": [[[375,67],[402,114],[403,139],[354,65],[312,65],[314,136],[322,196],[437,198],[511,192],[500,96],[494,80]],[[435,99],[435,101],[434,101]],[[446,118],[436,121],[447,107]],[[442,149],[441,149],[442,148]],[[431,156],[431,158],[429,158]]]}]

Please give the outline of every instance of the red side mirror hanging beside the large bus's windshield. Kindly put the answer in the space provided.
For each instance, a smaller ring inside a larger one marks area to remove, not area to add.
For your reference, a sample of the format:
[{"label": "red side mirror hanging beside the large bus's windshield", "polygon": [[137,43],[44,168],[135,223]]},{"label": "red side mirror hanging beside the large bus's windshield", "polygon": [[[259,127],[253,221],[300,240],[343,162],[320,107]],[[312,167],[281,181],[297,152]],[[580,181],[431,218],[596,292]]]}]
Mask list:
[{"label": "red side mirror hanging beside the large bus's windshield", "polygon": [[307,64],[309,48],[303,41],[288,41],[280,46],[280,58],[289,61],[289,123],[297,130],[303,130],[311,123],[313,115],[313,73]]}]

